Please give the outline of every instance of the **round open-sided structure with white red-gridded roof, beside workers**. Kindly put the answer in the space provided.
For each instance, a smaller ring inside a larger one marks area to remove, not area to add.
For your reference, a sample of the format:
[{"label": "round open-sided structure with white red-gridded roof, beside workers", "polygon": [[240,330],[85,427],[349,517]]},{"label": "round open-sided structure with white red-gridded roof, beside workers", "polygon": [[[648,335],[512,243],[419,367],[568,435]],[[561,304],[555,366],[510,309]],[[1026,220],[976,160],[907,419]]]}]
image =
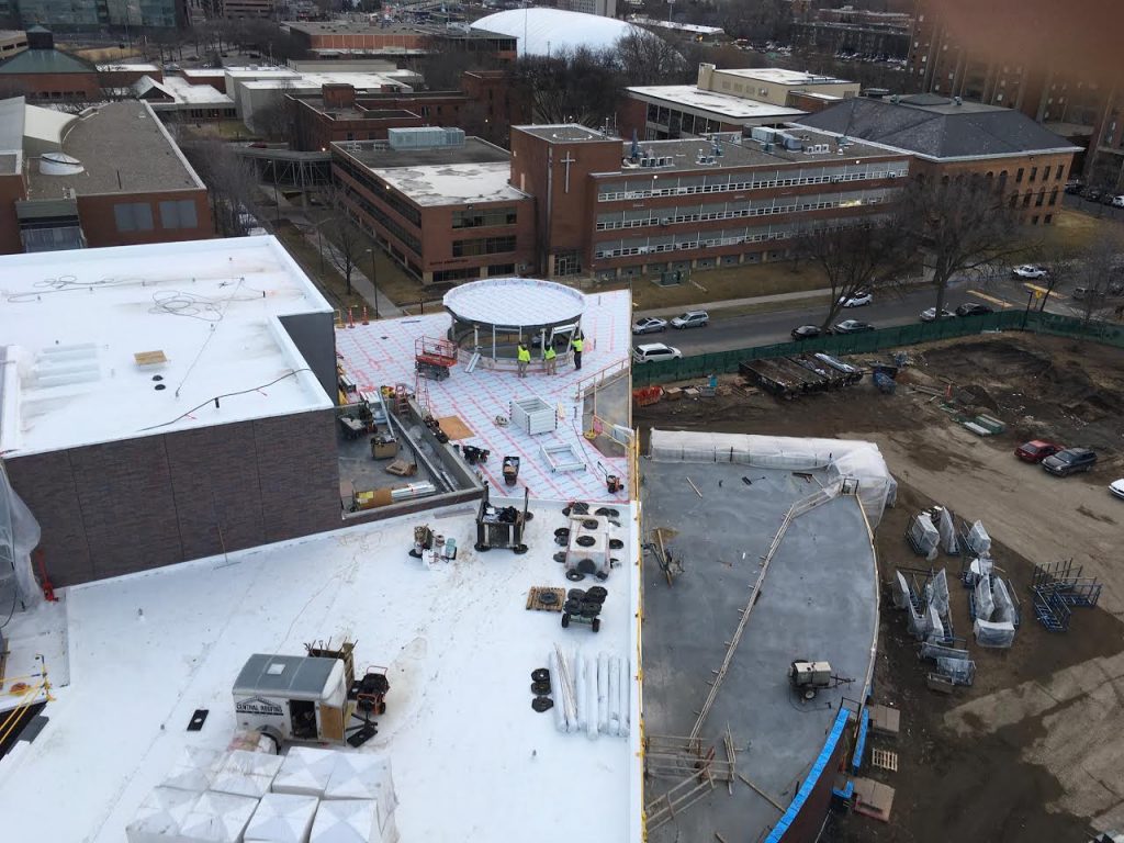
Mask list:
[{"label": "round open-sided structure with white red-gridded roof, beside workers", "polygon": [[453,317],[450,338],[484,356],[515,357],[516,346],[565,345],[579,328],[586,297],[532,278],[489,278],[454,287],[443,299]]}]

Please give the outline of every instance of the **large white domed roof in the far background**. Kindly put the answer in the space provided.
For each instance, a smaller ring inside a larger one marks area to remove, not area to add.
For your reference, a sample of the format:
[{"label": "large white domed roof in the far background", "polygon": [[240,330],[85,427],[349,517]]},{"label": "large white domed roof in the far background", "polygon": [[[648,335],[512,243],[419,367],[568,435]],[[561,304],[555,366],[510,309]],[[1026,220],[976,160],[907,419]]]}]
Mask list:
[{"label": "large white domed roof in the far background", "polygon": [[638,26],[600,15],[584,15],[562,9],[509,9],[472,24],[519,39],[519,55],[546,55],[561,49],[605,49],[623,36],[644,34]]}]

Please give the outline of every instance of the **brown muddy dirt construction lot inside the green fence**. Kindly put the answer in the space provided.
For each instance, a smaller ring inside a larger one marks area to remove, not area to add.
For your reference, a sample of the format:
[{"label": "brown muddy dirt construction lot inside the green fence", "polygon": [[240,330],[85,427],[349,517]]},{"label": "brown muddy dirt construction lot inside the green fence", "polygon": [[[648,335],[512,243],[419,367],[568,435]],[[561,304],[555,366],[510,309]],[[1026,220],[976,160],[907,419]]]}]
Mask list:
[{"label": "brown muddy dirt construction lot inside the green fence", "polygon": [[[976,645],[968,590],[954,579],[960,560],[941,556],[933,564],[948,569],[955,633],[968,637],[977,676],[953,695],[931,691],[883,589],[874,699],[901,709],[901,734],[873,745],[897,752],[898,770],[863,774],[895,789],[892,814],[887,824],[837,819],[826,839],[1084,843],[1093,830],[1124,831],[1124,500],[1107,490],[1124,478],[1124,350],[1005,334],[905,351],[910,365],[894,396],[869,380],[792,401],[727,388],[637,409],[636,422],[878,443],[899,482],[877,534],[883,583],[896,565],[927,566],[904,540],[919,509],[942,504],[992,536],[1023,605],[1014,646]],[[954,413],[986,413],[1007,430],[980,438]],[[1090,446],[1099,462],[1051,477],[1012,453],[1034,437]],[[1104,583],[1100,602],[1075,608],[1069,632],[1048,633],[1030,610],[1033,566],[1069,559]]]}]

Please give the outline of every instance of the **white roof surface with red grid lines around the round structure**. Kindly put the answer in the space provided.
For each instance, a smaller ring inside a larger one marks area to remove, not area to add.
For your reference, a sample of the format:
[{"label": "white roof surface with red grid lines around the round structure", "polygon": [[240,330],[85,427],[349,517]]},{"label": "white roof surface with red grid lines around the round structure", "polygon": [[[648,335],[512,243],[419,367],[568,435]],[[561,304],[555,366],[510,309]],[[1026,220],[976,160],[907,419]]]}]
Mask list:
[{"label": "white roof surface with red grid lines around the round structure", "polygon": [[[347,377],[366,393],[386,383],[414,382],[414,348],[422,337],[443,337],[453,325],[447,312],[400,319],[382,319],[370,325],[356,325],[354,330],[336,332],[336,352]],[[532,373],[519,378],[509,369],[489,369],[481,364],[469,373],[464,364],[453,368],[445,380],[430,381],[429,405],[437,418],[457,417],[469,433],[461,445],[487,448],[491,456],[475,468],[496,489],[505,489],[502,460],[505,455],[520,457],[519,488],[524,486],[533,498],[550,500],[600,501],[616,506],[627,493],[610,495],[605,475],[616,474],[628,488],[632,471],[623,456],[606,456],[583,435],[593,422],[586,404],[575,398],[579,381],[590,373],[625,368],[632,356],[632,298],[627,290],[598,292],[586,297],[581,314],[581,330],[586,336],[582,369],[575,370],[560,352],[558,374]],[[491,336],[480,332],[483,352],[491,355]],[[537,360],[537,351],[534,352]],[[631,426],[628,379],[615,382],[620,387],[619,405],[607,392],[598,396],[598,415],[614,424]],[[554,430],[531,436],[515,425],[499,426],[496,417],[508,417],[511,401],[537,396],[559,408],[560,422]],[[553,471],[543,455],[544,447],[572,448],[581,464],[580,471]],[[536,518],[537,520],[537,518]],[[495,555],[495,554],[493,554]]]}]

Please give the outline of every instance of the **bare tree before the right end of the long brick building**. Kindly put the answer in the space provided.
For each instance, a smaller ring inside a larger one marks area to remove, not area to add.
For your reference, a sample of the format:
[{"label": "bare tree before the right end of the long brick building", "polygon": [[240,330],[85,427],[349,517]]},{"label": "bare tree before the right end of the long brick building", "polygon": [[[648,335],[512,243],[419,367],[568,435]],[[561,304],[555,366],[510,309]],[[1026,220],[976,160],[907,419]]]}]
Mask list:
[{"label": "bare tree before the right end of the long brick building", "polygon": [[847,299],[889,289],[910,263],[907,244],[894,215],[805,232],[796,248],[819,268],[832,290],[821,327],[827,329]]}]

